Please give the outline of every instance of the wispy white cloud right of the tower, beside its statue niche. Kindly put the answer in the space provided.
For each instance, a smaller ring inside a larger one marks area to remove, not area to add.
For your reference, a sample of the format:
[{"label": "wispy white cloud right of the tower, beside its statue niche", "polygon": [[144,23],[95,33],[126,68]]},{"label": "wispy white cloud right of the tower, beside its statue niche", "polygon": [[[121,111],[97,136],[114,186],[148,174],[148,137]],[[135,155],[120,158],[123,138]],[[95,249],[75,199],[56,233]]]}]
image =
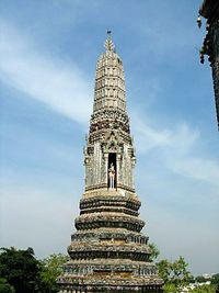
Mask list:
[{"label": "wispy white cloud right of the tower, beside its statue niche", "polygon": [[163,168],[183,177],[219,185],[219,162],[201,157],[204,154],[199,157],[196,155],[196,150],[200,149],[200,134],[197,129],[194,131],[186,124],[155,128],[141,116],[135,115],[134,132],[137,150],[141,155],[157,151]]}]

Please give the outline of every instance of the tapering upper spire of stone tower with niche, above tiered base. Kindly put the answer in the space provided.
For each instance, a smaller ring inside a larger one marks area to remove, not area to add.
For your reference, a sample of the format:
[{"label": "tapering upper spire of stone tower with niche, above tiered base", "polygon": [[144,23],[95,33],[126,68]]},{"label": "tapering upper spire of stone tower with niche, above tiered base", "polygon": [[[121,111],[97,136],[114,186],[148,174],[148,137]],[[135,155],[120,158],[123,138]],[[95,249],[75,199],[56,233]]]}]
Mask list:
[{"label": "tapering upper spire of stone tower with niche, above tiered base", "polygon": [[94,106],[85,156],[85,190],[108,188],[108,169],[115,167],[115,187],[134,191],[135,149],[126,111],[123,63],[112,50],[111,35],[106,52],[96,65]]}]

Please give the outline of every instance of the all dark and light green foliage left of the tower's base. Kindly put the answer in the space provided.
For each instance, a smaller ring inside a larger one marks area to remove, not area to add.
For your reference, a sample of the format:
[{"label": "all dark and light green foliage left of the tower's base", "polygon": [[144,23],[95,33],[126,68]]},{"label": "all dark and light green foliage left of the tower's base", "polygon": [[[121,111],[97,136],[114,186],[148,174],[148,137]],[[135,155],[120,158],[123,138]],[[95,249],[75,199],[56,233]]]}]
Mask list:
[{"label": "all dark and light green foliage left of the tower's base", "polygon": [[59,253],[37,260],[32,248],[1,248],[0,293],[57,293],[56,279],[68,259]]}]

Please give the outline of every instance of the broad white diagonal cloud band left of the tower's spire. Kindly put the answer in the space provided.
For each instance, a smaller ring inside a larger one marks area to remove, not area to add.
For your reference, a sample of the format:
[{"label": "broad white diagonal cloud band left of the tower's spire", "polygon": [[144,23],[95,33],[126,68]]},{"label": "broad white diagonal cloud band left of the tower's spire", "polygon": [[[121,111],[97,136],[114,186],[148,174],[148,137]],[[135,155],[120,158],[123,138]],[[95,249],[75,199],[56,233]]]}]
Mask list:
[{"label": "broad white diagonal cloud band left of the tower's spire", "polygon": [[1,22],[0,79],[79,123],[91,113],[93,92],[77,68],[44,56],[14,27]]}]

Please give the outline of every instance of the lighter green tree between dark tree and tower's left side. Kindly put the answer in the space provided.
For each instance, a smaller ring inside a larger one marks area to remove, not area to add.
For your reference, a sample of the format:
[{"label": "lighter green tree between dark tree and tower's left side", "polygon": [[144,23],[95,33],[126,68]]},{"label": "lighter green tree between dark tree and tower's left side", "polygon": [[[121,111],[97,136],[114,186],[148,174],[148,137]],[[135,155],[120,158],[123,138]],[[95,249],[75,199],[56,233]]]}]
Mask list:
[{"label": "lighter green tree between dark tree and tower's left side", "polygon": [[[69,260],[66,255],[50,255],[48,258],[41,260],[42,264],[42,292],[56,293],[58,285],[56,283],[57,277],[61,273],[61,266]],[[46,291],[45,291],[46,289]]]}]

